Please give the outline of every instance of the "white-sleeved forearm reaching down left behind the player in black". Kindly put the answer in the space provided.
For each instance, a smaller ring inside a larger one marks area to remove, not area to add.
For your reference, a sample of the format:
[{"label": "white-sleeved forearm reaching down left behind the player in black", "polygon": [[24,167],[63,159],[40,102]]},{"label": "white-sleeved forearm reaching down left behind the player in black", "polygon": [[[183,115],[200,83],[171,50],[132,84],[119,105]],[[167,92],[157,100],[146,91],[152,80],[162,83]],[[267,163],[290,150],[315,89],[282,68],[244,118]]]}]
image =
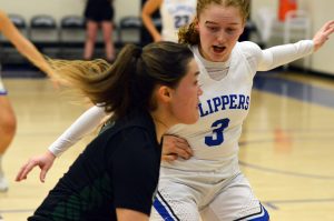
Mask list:
[{"label": "white-sleeved forearm reaching down left behind the player in black", "polygon": [[104,108],[96,106],[90,108],[49,147],[49,151],[59,157],[81,138],[92,132],[106,115]]}]

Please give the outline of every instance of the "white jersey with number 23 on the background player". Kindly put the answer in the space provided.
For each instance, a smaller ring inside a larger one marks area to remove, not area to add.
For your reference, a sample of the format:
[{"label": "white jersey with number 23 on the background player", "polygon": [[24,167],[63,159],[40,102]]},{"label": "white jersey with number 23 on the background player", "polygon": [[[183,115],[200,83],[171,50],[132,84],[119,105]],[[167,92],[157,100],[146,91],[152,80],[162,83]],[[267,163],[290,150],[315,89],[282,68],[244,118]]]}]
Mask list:
[{"label": "white jersey with number 23 on the background player", "polygon": [[178,41],[178,29],[193,21],[196,3],[197,0],[163,0],[160,6],[163,40]]}]

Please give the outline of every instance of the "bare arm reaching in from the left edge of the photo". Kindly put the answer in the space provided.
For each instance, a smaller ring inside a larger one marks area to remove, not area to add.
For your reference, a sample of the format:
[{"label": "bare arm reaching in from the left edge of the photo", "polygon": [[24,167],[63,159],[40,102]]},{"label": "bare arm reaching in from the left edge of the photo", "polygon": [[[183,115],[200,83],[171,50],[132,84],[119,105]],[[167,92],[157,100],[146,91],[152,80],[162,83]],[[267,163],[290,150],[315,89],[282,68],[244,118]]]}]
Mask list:
[{"label": "bare arm reaching in from the left edge of the photo", "polygon": [[49,77],[52,76],[52,69],[43,56],[20,33],[3,11],[0,11],[0,32],[36,67]]}]

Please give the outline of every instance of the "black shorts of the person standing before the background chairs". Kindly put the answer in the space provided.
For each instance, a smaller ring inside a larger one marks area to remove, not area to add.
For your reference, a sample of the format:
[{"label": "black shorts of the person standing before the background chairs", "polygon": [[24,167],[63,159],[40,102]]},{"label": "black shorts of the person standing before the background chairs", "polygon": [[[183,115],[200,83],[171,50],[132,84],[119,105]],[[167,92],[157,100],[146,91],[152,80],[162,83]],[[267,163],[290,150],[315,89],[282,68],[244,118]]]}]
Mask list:
[{"label": "black shorts of the person standing before the background chairs", "polygon": [[112,21],[114,7],[110,0],[88,0],[85,9],[86,20],[96,22]]}]

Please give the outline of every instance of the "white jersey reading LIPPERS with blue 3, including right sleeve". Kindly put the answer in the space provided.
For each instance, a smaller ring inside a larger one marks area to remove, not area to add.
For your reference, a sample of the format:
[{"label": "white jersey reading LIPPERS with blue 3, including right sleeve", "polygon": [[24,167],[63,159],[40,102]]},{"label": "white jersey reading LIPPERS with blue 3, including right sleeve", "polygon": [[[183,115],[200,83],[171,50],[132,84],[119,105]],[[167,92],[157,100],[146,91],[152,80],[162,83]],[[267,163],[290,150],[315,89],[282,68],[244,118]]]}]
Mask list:
[{"label": "white jersey reading LIPPERS with blue 3, including right sleeve", "polygon": [[171,163],[163,161],[161,169],[214,171],[220,178],[228,178],[239,172],[238,139],[249,111],[256,71],[273,69],[312,53],[313,42],[305,40],[267,50],[261,50],[253,42],[237,42],[227,62],[205,60],[197,46],[191,50],[200,70],[200,118],[195,124],[177,124],[168,133],[185,138],[194,157],[189,160],[179,158]]}]

